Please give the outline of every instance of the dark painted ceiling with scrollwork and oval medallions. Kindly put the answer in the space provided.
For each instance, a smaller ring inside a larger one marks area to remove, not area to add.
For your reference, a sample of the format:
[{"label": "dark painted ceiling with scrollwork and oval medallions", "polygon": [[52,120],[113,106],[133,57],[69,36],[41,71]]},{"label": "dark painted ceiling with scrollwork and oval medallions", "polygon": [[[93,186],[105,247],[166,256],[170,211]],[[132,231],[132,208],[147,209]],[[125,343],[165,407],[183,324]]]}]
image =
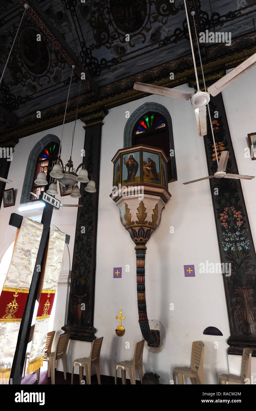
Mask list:
[{"label": "dark painted ceiling with scrollwork and oval medallions", "polygon": [[[0,0],[1,72],[24,3],[25,0]],[[67,121],[73,119],[83,59],[86,79],[79,113],[84,118],[102,107],[140,97],[133,90],[136,80],[174,86],[193,78],[183,0],[27,3],[30,10],[25,14],[0,85],[1,141],[61,124],[72,64],[76,69]],[[255,52],[256,1],[188,0],[188,6],[190,11],[196,11],[198,33],[231,32],[231,46],[202,45],[206,74],[233,67]],[[41,35],[40,42],[37,34]],[[126,35],[130,36],[129,41]],[[244,50],[247,52],[242,53]],[[170,72],[176,76],[172,83],[168,81]],[[36,119],[37,110],[42,112],[40,120]]]}]

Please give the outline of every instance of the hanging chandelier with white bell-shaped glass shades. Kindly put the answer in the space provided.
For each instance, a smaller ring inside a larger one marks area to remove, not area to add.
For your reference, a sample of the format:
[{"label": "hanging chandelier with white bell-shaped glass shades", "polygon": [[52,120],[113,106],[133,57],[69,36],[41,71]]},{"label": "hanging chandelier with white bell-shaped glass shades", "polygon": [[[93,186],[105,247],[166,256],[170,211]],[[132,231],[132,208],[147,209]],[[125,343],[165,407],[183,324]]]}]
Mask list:
[{"label": "hanging chandelier with white bell-shaped glass shades", "polygon": [[[84,62],[83,62],[83,66],[84,66]],[[63,125],[62,125],[61,143],[62,143],[63,130],[64,130],[64,124],[65,124],[65,118],[66,118],[66,112],[67,112],[67,104],[68,104],[68,98],[69,98],[70,86],[72,82],[74,68],[75,66],[72,65],[72,74],[71,74],[70,85],[69,85],[69,89],[67,93],[67,102],[66,102]],[[65,168],[64,168],[63,161],[60,157],[60,153],[61,153],[61,143],[60,143],[60,149],[59,149],[58,159],[56,160],[56,164],[54,164],[53,168],[46,166],[47,169],[51,170],[50,176],[53,178],[53,182],[50,184],[49,189],[47,190],[47,194],[51,194],[51,195],[58,194],[56,180],[58,180],[63,186],[72,187],[72,193],[70,194],[70,197],[73,197],[73,198],[81,197],[80,189],[77,185],[77,182],[88,183],[86,187],[84,188],[84,191],[86,192],[95,193],[97,191],[95,188],[95,182],[92,179],[92,175],[90,175],[91,180],[89,180],[88,178],[88,171],[86,170],[85,164],[82,162],[81,164],[79,164],[77,169],[74,169],[74,165],[72,161],[72,150],[73,150],[73,143],[74,143],[75,127],[76,127],[77,116],[78,116],[78,103],[79,103],[80,90],[81,90],[81,82],[79,86],[79,95],[77,99],[76,119],[74,122],[74,129],[72,132],[70,159],[67,161],[67,163],[65,164]],[[80,168],[81,170],[79,171]],[[78,171],[79,171],[79,174],[78,174]],[[44,171],[40,171],[40,173],[37,175],[37,179],[35,180],[35,183],[40,184],[40,185],[48,184]]]}]

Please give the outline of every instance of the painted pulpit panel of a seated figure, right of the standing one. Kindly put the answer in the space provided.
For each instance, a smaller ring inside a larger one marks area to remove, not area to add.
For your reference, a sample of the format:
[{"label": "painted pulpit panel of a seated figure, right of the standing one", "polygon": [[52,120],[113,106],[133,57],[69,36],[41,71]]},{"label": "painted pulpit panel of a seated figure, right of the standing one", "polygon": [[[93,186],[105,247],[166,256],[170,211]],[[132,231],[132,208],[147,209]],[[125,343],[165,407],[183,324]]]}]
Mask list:
[{"label": "painted pulpit panel of a seated figure, right of the standing one", "polygon": [[160,155],[150,151],[142,151],[143,181],[161,184]]}]

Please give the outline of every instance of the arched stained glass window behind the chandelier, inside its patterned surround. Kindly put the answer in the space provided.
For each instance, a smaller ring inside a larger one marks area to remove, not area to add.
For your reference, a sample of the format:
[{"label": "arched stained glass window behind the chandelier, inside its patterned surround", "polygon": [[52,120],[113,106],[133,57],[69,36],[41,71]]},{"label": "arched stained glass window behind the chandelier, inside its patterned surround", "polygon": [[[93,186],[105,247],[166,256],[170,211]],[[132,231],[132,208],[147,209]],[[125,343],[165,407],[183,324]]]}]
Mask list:
[{"label": "arched stained glass window behind the chandelier, inside its patterned surround", "polygon": [[[58,158],[59,149],[60,149],[60,146],[58,143],[51,142],[47,144],[46,147],[44,147],[44,149],[38,156],[37,166],[35,168],[35,175],[34,175],[34,180],[33,180],[33,187],[31,190],[31,192],[37,194],[37,196],[39,196],[42,191],[47,191],[49,188],[49,185],[52,182],[52,177],[50,176],[51,170],[47,169],[47,166],[49,167],[54,166]],[[38,185],[38,184],[35,184],[34,182],[35,179],[37,178],[38,173],[40,173],[41,171],[44,171],[46,175],[46,179],[48,182],[47,185]],[[37,198],[31,194],[30,200],[36,201]]]}]

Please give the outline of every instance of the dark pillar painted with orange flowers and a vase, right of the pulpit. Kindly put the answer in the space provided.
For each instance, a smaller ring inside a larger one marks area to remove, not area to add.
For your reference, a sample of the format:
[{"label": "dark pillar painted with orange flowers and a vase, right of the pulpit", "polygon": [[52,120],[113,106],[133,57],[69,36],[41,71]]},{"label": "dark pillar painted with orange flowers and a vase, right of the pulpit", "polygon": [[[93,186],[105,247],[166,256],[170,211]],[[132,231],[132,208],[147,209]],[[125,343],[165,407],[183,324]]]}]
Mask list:
[{"label": "dark pillar painted with orange flowers and a vase, right of the pulpit", "polygon": [[[221,94],[209,104],[218,158],[223,150],[230,152],[227,173],[243,174],[237,169],[233,145],[228,129]],[[209,174],[217,169],[216,154],[210,124],[205,136],[205,150]],[[245,136],[247,132],[245,132]],[[242,136],[241,136],[242,138]],[[240,153],[244,155],[244,153]],[[250,161],[250,160],[249,160]],[[254,175],[253,168],[251,173]],[[198,183],[197,183],[198,184]],[[237,347],[256,347],[256,254],[244,203],[240,180],[212,178],[209,180],[219,239],[221,262],[231,264],[231,273],[224,273],[224,285],[231,337],[228,353],[238,353]],[[243,184],[251,185],[249,180]]]}]

